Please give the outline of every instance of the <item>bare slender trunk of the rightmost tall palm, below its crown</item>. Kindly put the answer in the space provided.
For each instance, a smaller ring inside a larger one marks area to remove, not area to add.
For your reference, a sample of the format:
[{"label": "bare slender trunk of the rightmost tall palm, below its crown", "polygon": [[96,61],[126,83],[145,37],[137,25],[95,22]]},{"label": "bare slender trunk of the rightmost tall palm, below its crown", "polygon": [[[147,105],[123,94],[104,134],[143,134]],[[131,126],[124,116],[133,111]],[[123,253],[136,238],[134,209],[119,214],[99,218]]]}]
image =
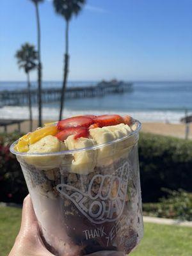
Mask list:
[{"label": "bare slender trunk of the rightmost tall palm, below its crown", "polygon": [[61,102],[60,102],[60,120],[62,119],[63,114],[63,106],[64,106],[64,100],[65,100],[65,90],[67,85],[67,76],[68,76],[68,20],[66,22],[66,28],[65,28],[65,60],[64,60],[64,75],[63,75],[63,86],[61,90]]}]

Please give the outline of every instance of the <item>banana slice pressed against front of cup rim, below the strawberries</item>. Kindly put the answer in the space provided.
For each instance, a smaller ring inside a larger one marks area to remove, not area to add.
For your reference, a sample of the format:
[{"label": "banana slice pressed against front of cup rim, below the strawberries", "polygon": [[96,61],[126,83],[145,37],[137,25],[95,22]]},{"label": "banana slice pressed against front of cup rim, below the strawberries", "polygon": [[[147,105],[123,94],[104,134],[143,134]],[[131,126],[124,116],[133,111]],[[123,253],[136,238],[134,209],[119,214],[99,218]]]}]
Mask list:
[{"label": "banana slice pressed against front of cup rim, below the strawberries", "polygon": [[[78,148],[88,148],[95,145],[95,141],[88,138],[74,139],[74,136],[68,136],[65,140],[65,144],[68,150]],[[70,172],[86,174],[93,171],[95,164],[97,163],[97,151],[96,150],[85,150],[74,154],[74,160],[70,168]]]}]

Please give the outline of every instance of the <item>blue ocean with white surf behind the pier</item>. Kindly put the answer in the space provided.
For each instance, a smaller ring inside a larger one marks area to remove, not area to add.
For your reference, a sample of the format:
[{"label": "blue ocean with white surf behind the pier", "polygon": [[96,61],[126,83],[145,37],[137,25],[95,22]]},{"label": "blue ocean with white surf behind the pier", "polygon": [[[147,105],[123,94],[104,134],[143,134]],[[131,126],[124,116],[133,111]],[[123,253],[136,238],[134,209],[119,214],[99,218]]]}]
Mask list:
[{"label": "blue ocean with white surf behind the pier", "polygon": [[[134,116],[141,122],[178,123],[185,109],[192,114],[192,82],[132,82],[132,92],[106,95],[104,97],[65,100],[63,116],[83,113],[119,113]],[[95,81],[73,81],[68,86],[88,86]],[[61,82],[44,82],[44,88],[61,87]],[[25,82],[0,82],[0,90],[22,90]],[[32,82],[32,88],[36,83]],[[44,104],[44,120],[57,120],[59,102]],[[0,108],[0,118],[28,118],[27,106],[4,106]],[[33,106],[33,118],[38,118]]]}]

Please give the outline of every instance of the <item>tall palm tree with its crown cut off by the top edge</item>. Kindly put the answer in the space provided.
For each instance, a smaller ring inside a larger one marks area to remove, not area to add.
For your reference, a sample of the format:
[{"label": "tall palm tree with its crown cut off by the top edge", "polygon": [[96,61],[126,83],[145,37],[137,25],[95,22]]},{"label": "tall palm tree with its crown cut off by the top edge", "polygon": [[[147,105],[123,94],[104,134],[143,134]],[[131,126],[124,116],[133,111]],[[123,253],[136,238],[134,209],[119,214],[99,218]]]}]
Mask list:
[{"label": "tall palm tree with its crown cut off by the top edge", "polygon": [[38,51],[38,126],[42,126],[42,63],[41,63],[41,31],[38,3],[44,0],[31,0],[35,4],[37,25],[37,51]]}]

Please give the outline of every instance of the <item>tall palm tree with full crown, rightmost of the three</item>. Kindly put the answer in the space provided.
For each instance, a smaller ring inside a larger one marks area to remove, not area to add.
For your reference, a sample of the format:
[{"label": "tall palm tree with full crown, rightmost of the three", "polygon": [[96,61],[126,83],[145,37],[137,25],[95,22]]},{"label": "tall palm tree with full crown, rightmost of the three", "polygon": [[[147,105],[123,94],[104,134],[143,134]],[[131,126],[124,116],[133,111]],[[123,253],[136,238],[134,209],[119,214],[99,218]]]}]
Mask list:
[{"label": "tall palm tree with full crown, rightmost of the three", "polygon": [[65,60],[64,60],[64,74],[63,74],[63,86],[61,90],[61,102],[60,102],[60,120],[63,113],[63,102],[65,99],[65,89],[67,85],[68,76],[68,24],[73,15],[78,15],[78,13],[83,8],[86,0],[53,0],[54,9],[56,13],[63,16],[66,21],[65,28]]}]

